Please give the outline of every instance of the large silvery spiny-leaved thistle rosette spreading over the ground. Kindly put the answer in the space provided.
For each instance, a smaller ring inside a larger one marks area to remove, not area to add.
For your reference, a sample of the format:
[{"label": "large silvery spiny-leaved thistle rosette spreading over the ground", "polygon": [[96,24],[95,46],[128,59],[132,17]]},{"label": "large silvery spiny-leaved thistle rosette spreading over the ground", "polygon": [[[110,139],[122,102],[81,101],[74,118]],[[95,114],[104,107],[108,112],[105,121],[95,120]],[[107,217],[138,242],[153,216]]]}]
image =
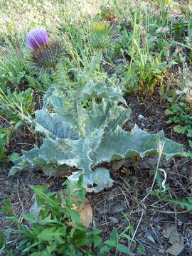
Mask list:
[{"label": "large silvery spiny-leaved thistle rosette spreading over the ground", "polygon": [[[183,146],[166,139],[164,132],[149,134],[137,126],[124,131],[122,126],[130,110],[118,105],[127,105],[120,88],[107,85],[105,80],[95,82],[81,69],[74,71],[77,91],[63,85],[50,87],[43,109],[36,111],[34,119],[36,131],[45,135],[43,144],[22,151],[23,156],[14,161],[9,175],[39,166],[47,175],[66,176],[75,166],[79,171],[68,177],[70,181],[75,183],[83,174],[87,191],[99,192],[113,182],[107,168],[97,167],[100,164],[159,154],[160,142],[164,142],[162,156],[183,154]],[[100,103],[94,100],[98,98]],[[92,109],[83,107],[85,99],[93,100]]]}]

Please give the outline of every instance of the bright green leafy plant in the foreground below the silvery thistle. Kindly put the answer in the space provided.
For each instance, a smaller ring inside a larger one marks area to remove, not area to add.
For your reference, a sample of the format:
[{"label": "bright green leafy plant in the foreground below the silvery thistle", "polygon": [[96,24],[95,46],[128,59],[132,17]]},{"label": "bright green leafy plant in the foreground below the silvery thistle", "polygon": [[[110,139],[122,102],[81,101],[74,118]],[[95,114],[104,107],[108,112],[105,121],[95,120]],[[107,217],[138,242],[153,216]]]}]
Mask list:
[{"label": "bright green leafy plant in the foreground below the silvery thistle", "polygon": [[[86,193],[85,188],[82,186],[82,176],[76,186],[73,186],[68,181],[63,185],[66,186],[65,191],[58,193],[46,192],[48,186],[30,186],[36,193],[36,202],[39,208],[36,217],[31,214],[23,215],[23,218],[31,224],[31,228],[20,223],[13,215],[7,218],[9,221],[14,220],[16,222],[18,230],[9,229],[6,230],[6,233],[9,233],[9,235],[10,233],[21,233],[23,235],[17,250],[21,251],[22,255],[28,254],[31,256],[63,255],[63,253],[66,256],[107,256],[107,253],[111,250],[115,251],[115,253],[129,253],[129,248],[122,245],[119,240],[120,238],[125,238],[134,242],[127,235],[127,230],[131,230],[130,224],[120,235],[114,228],[110,239],[103,244],[102,238],[99,236],[102,230],[97,228],[89,230],[86,228],[82,224],[78,213]],[[7,214],[12,213],[10,202],[4,201],[3,207],[6,207],[4,212]],[[124,216],[128,220],[127,216]],[[0,236],[2,238],[0,240],[0,252],[3,252],[6,248],[6,242],[2,232]],[[93,251],[88,250],[87,245],[92,245],[95,249]],[[97,253],[94,252],[95,250]]]}]

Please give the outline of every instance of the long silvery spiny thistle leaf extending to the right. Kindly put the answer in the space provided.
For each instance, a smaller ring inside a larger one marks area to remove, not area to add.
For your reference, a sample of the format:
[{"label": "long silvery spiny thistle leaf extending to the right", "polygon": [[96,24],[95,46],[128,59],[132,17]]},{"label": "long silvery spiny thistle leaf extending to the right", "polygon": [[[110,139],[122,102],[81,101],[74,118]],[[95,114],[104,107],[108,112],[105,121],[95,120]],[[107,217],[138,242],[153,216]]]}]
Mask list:
[{"label": "long silvery spiny thistle leaf extending to the right", "polygon": [[105,134],[92,158],[97,164],[100,164],[105,161],[110,162],[134,156],[155,155],[159,154],[159,142],[161,141],[165,142],[163,156],[170,158],[171,156],[181,156],[183,153],[183,146],[172,142],[171,139],[166,139],[164,132],[149,134],[136,125],[130,132],[117,127],[115,131]]}]

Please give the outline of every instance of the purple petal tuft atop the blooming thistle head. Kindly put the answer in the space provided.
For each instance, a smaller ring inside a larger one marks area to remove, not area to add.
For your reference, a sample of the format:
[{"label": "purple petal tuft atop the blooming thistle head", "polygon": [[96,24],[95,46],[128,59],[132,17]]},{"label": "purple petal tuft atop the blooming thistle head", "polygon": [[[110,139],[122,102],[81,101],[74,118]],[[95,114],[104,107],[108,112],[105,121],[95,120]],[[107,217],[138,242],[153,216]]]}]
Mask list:
[{"label": "purple petal tuft atop the blooming thistle head", "polygon": [[38,27],[33,28],[26,35],[26,46],[31,50],[38,50],[48,44],[48,33],[46,29]]}]

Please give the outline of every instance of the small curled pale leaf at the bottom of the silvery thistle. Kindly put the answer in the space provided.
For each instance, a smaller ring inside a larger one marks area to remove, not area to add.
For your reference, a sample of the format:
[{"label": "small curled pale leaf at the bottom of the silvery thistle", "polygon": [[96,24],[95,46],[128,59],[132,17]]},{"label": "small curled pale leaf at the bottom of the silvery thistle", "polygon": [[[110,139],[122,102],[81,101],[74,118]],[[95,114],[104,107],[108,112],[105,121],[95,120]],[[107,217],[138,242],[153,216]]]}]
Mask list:
[{"label": "small curled pale leaf at the bottom of the silvery thistle", "polygon": [[[82,172],[78,171],[70,175],[68,179],[72,183],[77,183],[80,175],[82,175]],[[95,171],[92,171],[88,179],[86,175],[83,176],[83,184],[87,192],[98,193],[105,188],[112,187],[113,180],[110,178],[110,172],[108,169],[97,168]]]}]

